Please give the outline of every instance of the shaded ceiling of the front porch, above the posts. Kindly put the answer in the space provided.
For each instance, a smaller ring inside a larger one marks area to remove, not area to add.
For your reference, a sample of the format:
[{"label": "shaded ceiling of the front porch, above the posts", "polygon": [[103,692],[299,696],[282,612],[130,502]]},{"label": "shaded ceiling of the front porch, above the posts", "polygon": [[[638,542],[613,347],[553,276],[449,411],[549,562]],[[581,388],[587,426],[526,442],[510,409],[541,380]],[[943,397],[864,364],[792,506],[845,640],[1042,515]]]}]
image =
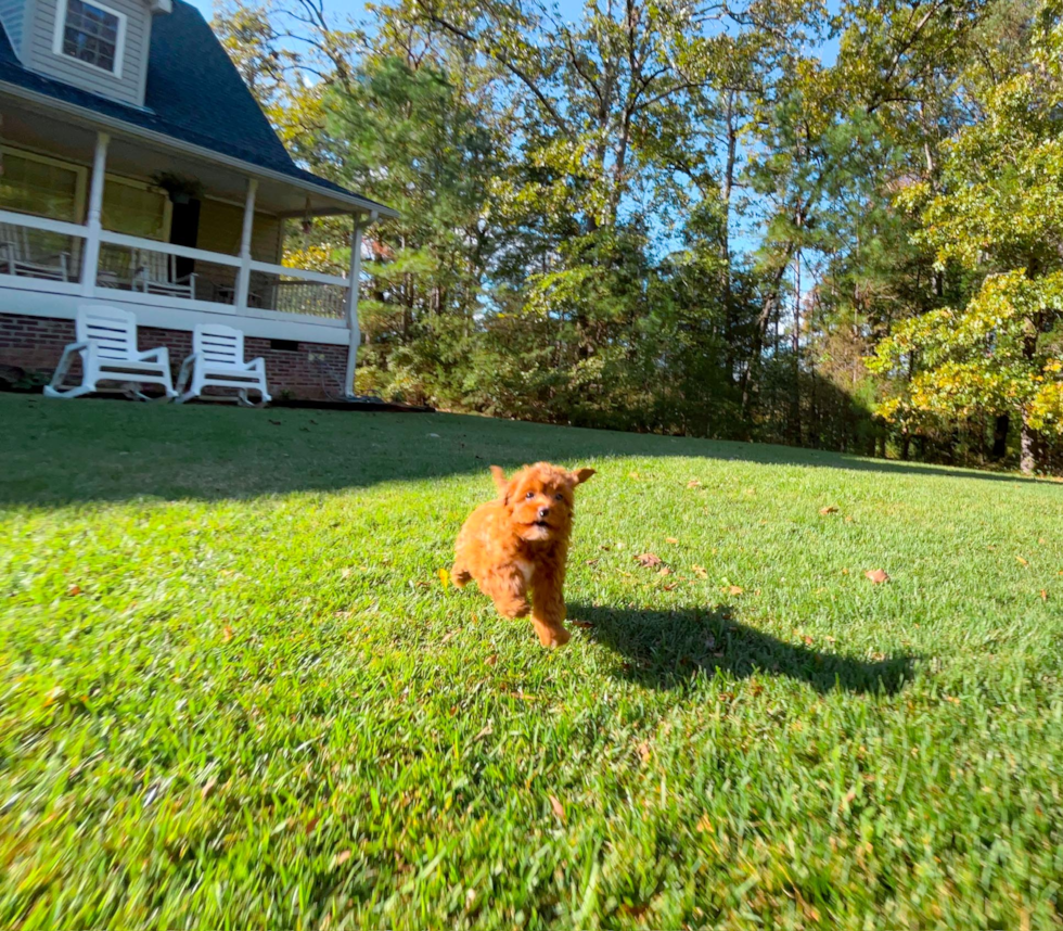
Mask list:
[{"label": "shaded ceiling of the front porch, above the posts", "polygon": [[[30,106],[4,101],[0,141],[31,149],[43,155],[91,166],[97,128],[67,118],[42,115]],[[247,179],[258,179],[255,207],[278,216],[316,216],[356,213],[357,207],[330,197],[320,190],[300,188],[295,183],[264,176],[248,166],[246,171],[235,167],[197,158],[165,145],[155,145],[112,132],[107,150],[107,171],[151,181],[159,173],[170,173],[197,180],[206,196],[243,204]]]}]

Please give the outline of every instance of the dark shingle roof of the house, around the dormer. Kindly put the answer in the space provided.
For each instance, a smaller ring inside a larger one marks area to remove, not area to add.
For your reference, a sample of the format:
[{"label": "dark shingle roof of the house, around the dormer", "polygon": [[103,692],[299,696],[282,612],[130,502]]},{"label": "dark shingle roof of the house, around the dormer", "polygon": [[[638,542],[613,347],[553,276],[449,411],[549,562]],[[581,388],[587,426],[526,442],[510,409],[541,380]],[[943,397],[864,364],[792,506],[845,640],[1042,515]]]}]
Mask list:
[{"label": "dark shingle roof of the house, around the dormer", "polygon": [[206,20],[183,0],[174,0],[171,13],[152,21],[143,107],[27,71],[2,28],[0,81],[310,182],[323,193],[375,203],[311,175],[292,161]]}]

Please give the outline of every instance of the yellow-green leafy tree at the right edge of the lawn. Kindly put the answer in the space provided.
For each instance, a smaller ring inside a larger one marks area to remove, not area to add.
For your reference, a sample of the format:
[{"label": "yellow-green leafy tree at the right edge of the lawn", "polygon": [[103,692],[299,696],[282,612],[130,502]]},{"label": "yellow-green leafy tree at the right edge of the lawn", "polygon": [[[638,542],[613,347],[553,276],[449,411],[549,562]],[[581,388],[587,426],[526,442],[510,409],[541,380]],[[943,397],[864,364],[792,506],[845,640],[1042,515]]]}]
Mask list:
[{"label": "yellow-green leafy tree at the right edge of the lawn", "polygon": [[938,268],[955,264],[981,281],[964,307],[896,326],[874,362],[888,373],[918,360],[907,391],[882,406],[887,416],[1017,415],[1026,472],[1037,464],[1035,433],[1063,435],[1061,12],[1043,4],[1028,54],[999,62],[1003,73],[974,87],[979,118],[945,146],[940,190],[922,182],[901,199],[925,203],[918,240]]}]

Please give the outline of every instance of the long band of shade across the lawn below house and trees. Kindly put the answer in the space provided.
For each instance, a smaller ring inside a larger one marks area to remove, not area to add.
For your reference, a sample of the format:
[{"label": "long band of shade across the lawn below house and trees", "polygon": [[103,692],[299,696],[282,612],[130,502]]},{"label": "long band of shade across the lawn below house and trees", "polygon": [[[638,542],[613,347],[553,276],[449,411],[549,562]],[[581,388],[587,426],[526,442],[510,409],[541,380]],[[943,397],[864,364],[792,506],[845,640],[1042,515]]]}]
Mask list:
[{"label": "long band of shade across the lawn below house and trees", "polygon": [[[898,475],[1028,482],[810,449],[652,436],[457,415],[49,400],[0,394],[0,503],[138,497],[242,499],[481,474],[540,459],[610,457],[811,466]],[[600,467],[601,468],[601,467]],[[697,472],[691,462],[691,477]]]}]

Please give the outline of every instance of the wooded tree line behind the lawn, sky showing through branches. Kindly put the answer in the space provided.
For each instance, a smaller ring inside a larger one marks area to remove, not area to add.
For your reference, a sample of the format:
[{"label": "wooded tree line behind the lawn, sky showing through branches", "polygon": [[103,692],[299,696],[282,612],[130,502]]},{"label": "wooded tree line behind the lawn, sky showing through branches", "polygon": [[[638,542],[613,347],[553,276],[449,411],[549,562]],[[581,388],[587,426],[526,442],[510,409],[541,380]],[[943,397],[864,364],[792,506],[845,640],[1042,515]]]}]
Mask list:
[{"label": "wooded tree line behind the lawn, sky showing through branches", "polygon": [[[238,66],[298,160],[401,212],[367,240],[359,391],[1063,451],[1054,4],[270,2],[219,12]],[[342,268],[345,237],[316,221],[290,252]]]}]

